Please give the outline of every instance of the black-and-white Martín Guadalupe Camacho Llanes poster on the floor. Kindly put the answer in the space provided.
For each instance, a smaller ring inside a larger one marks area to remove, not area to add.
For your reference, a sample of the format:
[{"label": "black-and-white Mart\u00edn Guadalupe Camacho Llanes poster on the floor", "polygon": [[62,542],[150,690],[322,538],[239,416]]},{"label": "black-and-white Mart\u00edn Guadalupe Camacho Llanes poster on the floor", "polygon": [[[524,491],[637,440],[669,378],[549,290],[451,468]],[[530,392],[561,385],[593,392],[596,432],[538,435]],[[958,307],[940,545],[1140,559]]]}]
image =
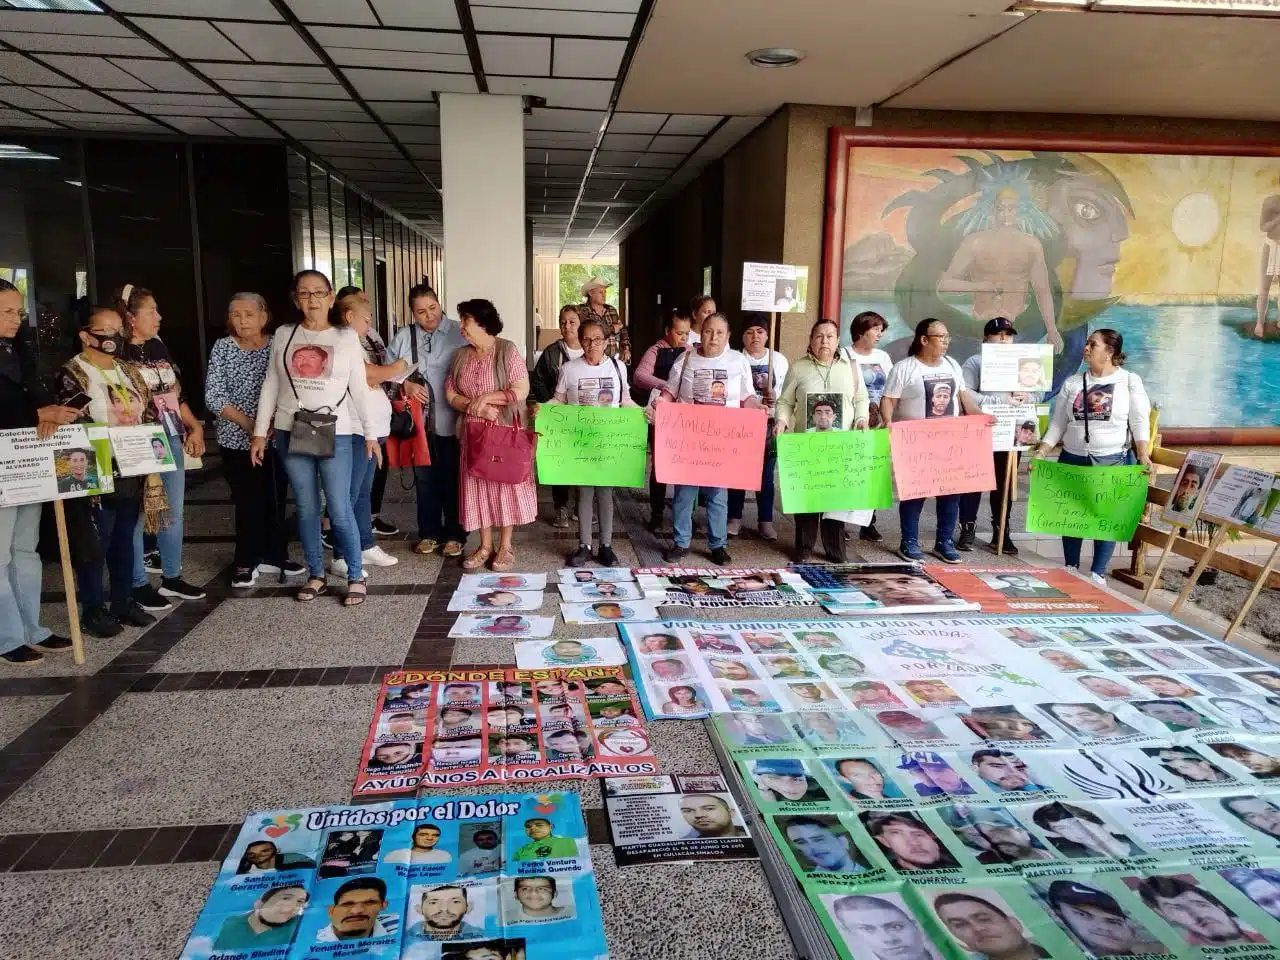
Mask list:
[{"label": "black-and-white Mart\u00edn Guadalupe Camacho Llanes poster on the floor", "polygon": [[719,771],[603,782],[618,867],[755,859],[755,844]]}]

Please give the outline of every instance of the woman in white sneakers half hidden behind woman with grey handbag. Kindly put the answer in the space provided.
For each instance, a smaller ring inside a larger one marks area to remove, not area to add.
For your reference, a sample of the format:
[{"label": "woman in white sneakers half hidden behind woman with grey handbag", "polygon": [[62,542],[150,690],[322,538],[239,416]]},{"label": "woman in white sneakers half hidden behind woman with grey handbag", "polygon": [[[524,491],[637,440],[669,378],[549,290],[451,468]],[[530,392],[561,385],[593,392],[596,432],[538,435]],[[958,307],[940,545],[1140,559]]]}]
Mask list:
[{"label": "woman in white sneakers half hidden behind woman with grey handbag", "polygon": [[[364,291],[347,293],[334,305],[337,326],[346,326],[360,338],[365,352],[365,381],[369,384],[369,420],[374,425],[378,447],[384,444],[392,433],[392,399],[383,384],[394,384],[393,378],[408,371],[408,361],[387,362],[387,348],[381,340],[371,337],[374,312]],[[362,567],[394,567],[399,561],[379,547],[374,539],[372,489],[378,465],[362,456],[365,436],[355,433],[358,424],[352,425],[351,442],[351,509],[356,517],[356,530],[360,532],[360,559]],[[333,562],[329,572],[334,576],[347,576],[348,564],[342,547],[333,545]]]}]

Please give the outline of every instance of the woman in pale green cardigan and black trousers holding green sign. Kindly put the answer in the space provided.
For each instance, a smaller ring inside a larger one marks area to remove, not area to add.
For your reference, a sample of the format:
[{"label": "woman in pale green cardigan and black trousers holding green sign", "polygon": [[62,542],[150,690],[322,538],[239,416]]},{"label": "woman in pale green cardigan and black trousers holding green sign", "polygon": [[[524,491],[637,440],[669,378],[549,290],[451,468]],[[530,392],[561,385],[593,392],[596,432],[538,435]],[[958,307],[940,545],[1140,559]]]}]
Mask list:
[{"label": "woman in pale green cardigan and black trousers holding green sign", "polygon": [[[863,375],[840,352],[840,328],[832,320],[819,320],[809,330],[809,351],[787,370],[778,393],[773,434],[791,430],[865,430],[869,396]],[[822,513],[796,513],[795,562],[804,563],[813,549],[814,536],[822,535],[822,552],[832,563],[847,559],[845,524]]]}]

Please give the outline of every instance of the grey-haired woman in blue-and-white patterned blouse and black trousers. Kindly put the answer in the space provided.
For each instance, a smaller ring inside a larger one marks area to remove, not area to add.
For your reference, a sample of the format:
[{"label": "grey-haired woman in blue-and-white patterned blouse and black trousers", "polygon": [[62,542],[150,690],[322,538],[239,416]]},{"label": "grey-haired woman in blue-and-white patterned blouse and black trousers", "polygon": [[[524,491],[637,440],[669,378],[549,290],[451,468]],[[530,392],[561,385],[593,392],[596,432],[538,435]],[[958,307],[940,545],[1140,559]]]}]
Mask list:
[{"label": "grey-haired woman in blue-and-white patterned blouse and black trousers", "polygon": [[237,293],[227,307],[227,337],[214,343],[205,372],[205,406],[218,416],[218,451],[236,507],[236,570],[232,586],[250,588],[259,573],[301,576],[306,567],[291,561],[284,504],[288,480],[284,465],[270,447],[262,467],[248,460],[257,397],[271,361],[271,323],[266,301],[257,293]]}]

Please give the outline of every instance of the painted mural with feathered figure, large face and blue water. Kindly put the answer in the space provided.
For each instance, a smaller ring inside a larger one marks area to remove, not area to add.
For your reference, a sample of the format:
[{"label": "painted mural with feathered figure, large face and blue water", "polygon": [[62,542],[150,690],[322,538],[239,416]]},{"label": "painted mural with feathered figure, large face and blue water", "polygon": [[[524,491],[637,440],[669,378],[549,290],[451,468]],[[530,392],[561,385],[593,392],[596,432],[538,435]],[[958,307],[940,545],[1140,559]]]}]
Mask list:
[{"label": "painted mural with feathered figure, large face and blue water", "polygon": [[1111,326],[1164,426],[1276,425],[1280,157],[845,150],[845,342],[876,310],[897,358],[929,316],[964,360],[1007,316],[1056,389]]}]

